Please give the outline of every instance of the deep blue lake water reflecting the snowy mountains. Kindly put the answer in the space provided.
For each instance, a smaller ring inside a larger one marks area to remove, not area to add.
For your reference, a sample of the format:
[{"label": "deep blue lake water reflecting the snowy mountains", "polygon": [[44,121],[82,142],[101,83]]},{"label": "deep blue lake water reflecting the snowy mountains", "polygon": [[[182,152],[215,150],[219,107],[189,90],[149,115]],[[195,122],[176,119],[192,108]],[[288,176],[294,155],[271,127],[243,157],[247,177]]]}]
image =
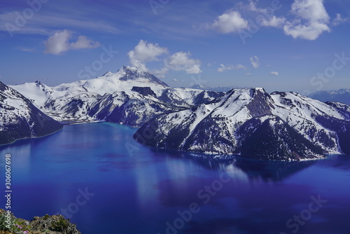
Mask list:
[{"label": "deep blue lake water reflecting the snowy mountains", "polygon": [[1,146],[1,163],[12,158],[11,211],[32,219],[66,210],[83,234],[350,233],[350,156],[218,162],[141,146],[136,130],[69,125]]}]

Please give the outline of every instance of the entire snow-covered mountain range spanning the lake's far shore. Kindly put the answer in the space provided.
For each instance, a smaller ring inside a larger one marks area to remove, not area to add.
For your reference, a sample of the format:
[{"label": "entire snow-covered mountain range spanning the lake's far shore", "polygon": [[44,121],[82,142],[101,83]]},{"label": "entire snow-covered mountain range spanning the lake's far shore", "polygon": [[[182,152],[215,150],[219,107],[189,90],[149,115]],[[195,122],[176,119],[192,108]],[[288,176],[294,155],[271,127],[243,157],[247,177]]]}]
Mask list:
[{"label": "entire snow-covered mountain range spanning the lake's far shore", "polygon": [[264,160],[350,154],[346,104],[263,88],[200,88],[170,88],[134,67],[55,87],[1,83],[0,144],[47,135],[61,123],[107,121],[141,127],[134,139],[160,149]]}]

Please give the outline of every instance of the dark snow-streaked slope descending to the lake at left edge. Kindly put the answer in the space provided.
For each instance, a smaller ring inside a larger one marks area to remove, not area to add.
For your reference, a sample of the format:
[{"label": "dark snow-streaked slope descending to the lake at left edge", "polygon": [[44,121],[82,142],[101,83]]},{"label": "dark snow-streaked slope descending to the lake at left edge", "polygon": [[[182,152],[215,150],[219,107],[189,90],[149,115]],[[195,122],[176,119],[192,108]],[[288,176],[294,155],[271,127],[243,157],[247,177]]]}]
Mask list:
[{"label": "dark snow-streaked slope descending to the lake at left edge", "polygon": [[62,127],[39,111],[29,99],[0,82],[0,144],[42,137]]}]

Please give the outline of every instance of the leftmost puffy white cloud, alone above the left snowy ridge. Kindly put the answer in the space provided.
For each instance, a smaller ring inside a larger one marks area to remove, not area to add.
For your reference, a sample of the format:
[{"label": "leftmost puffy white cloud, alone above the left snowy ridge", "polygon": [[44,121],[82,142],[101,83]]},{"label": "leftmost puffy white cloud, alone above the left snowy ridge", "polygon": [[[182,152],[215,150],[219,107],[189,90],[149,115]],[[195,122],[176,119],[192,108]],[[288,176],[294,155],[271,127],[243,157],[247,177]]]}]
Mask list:
[{"label": "leftmost puffy white cloud, alone above the left snowy ridge", "polygon": [[97,48],[100,45],[97,41],[90,41],[85,36],[79,36],[78,41],[69,43],[72,33],[68,30],[56,31],[44,42],[44,53],[59,55],[71,49]]}]

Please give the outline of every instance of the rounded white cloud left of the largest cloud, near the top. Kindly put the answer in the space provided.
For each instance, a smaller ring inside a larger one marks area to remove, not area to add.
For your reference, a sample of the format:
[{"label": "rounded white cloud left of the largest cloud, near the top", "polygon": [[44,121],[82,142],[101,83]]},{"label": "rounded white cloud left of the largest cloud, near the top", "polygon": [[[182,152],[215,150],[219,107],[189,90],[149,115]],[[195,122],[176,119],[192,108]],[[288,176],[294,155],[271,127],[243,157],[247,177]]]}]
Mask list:
[{"label": "rounded white cloud left of the largest cloud, near the top", "polygon": [[241,18],[241,13],[238,11],[228,11],[218,16],[209,28],[216,29],[218,32],[224,34],[239,32],[242,29],[248,28],[248,21]]}]

